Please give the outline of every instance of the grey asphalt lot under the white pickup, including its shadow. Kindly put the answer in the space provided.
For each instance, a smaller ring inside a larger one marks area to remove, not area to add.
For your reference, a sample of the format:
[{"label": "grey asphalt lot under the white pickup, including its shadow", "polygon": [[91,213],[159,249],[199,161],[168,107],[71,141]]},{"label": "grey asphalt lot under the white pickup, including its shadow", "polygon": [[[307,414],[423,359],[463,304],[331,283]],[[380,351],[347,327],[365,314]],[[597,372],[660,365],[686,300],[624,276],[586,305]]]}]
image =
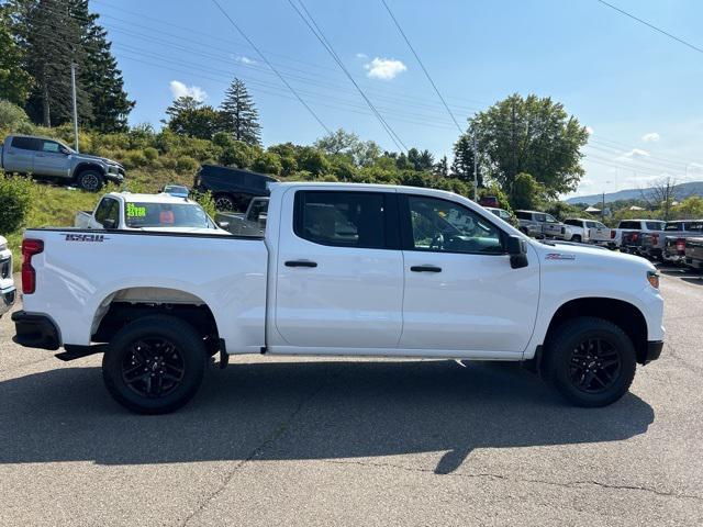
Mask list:
[{"label": "grey asphalt lot under the white pickup, including its shadow", "polygon": [[0,321],[0,525],[702,525],[703,280],[601,410],[513,365],[241,358],[132,415]]}]

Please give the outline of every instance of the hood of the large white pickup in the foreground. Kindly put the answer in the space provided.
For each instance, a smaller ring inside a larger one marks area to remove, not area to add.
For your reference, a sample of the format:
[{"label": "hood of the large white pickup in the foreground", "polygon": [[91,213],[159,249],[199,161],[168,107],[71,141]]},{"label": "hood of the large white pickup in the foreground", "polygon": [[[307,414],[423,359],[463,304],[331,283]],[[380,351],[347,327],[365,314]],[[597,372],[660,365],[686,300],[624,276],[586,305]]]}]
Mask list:
[{"label": "hood of the large white pickup in the foreground", "polygon": [[547,245],[536,240],[531,240],[536,249],[543,265],[573,265],[574,268],[588,266],[600,268],[603,271],[609,269],[625,269],[641,271],[655,271],[657,268],[648,260],[639,256],[625,255],[615,250],[589,247],[587,245]]}]

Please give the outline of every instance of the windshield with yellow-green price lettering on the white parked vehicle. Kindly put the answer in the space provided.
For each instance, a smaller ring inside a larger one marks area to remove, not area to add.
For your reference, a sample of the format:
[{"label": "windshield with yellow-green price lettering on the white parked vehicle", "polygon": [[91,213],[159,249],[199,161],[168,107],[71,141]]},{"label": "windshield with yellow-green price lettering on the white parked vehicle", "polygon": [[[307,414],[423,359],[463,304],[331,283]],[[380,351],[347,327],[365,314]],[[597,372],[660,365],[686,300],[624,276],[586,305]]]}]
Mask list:
[{"label": "windshield with yellow-green price lettering on the white parked vehicle", "polygon": [[127,202],[124,204],[124,223],[132,228],[215,228],[205,211],[196,203]]}]

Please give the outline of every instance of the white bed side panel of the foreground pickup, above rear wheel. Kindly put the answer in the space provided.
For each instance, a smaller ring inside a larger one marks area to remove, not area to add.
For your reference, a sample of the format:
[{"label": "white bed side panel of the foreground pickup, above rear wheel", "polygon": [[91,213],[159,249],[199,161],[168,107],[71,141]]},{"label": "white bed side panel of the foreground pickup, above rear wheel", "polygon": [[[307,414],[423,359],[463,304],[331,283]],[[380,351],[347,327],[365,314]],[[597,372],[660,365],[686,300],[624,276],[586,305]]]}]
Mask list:
[{"label": "white bed side panel of the foreground pickup, above rear wheel", "polygon": [[24,310],[48,315],[62,344],[90,344],[115,294],[134,296],[127,290],[156,290],[155,298],[181,292],[189,303],[208,305],[228,352],[265,344],[261,238],[76,228],[27,229],[27,238],[41,239],[44,249],[32,258],[36,291],[24,296]]}]

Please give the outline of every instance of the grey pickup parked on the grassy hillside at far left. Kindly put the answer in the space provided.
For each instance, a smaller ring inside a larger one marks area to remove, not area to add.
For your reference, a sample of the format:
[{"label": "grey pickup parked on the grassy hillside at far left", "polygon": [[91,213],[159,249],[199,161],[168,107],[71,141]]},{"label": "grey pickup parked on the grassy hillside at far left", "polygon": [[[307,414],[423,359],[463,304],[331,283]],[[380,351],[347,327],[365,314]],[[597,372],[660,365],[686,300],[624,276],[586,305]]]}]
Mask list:
[{"label": "grey pickup parked on the grassy hillside at far left", "polygon": [[105,181],[122,183],[124,167],[104,157],[78,154],[59,141],[30,135],[9,135],[0,150],[5,172],[31,173],[35,179],[76,184],[98,192]]}]

